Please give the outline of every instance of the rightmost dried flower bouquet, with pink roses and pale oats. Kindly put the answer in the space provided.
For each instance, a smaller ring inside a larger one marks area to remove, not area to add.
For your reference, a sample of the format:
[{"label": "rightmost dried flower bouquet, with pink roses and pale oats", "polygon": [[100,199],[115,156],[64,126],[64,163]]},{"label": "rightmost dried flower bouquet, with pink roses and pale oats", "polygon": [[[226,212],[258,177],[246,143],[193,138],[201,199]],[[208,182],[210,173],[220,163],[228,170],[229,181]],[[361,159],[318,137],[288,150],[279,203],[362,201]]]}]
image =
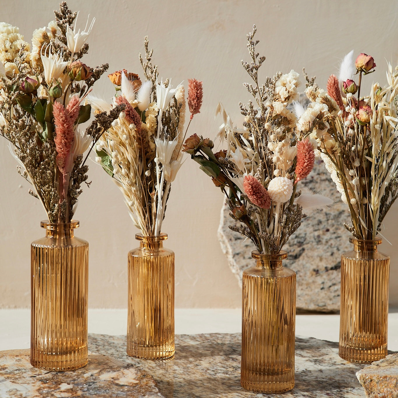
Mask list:
[{"label": "rightmost dried flower bouquet, with pink roses and pale oats", "polygon": [[[305,134],[318,142],[320,156],[348,205],[355,238],[375,239],[382,221],[398,197],[398,67],[388,64],[387,84],[375,83],[368,96],[360,97],[362,75],[375,70],[373,57],[353,51],[345,56],[339,77],[330,76],[327,93],[334,111],[324,126],[314,130],[318,115],[313,104],[325,96],[314,80],[308,80],[309,109],[300,116]],[[358,83],[354,74],[359,74]],[[357,96],[355,97],[355,94]]]}]

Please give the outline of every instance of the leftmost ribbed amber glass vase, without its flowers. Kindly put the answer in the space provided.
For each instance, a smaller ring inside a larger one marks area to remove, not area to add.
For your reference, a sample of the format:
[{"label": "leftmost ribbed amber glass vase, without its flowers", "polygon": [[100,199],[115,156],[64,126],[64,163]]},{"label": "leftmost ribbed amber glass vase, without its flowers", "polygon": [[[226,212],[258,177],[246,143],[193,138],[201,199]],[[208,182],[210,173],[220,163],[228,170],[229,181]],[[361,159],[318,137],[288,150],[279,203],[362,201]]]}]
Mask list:
[{"label": "leftmost ribbed amber glass vase, without its flowers", "polygon": [[41,222],[46,236],[31,244],[30,363],[49,371],[87,363],[88,242],[79,222]]}]

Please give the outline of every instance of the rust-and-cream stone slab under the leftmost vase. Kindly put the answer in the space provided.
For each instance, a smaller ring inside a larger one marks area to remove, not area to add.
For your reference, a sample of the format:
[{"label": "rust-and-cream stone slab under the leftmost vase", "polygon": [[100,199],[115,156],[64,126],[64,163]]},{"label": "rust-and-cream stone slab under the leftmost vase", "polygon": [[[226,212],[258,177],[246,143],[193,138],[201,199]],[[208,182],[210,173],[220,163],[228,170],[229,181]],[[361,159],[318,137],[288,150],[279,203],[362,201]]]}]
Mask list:
[{"label": "rust-and-cream stone slab under the leftmost vase", "polygon": [[50,372],[32,367],[29,352],[0,352],[0,397],[162,397],[146,371],[121,359],[90,353],[85,367]]}]

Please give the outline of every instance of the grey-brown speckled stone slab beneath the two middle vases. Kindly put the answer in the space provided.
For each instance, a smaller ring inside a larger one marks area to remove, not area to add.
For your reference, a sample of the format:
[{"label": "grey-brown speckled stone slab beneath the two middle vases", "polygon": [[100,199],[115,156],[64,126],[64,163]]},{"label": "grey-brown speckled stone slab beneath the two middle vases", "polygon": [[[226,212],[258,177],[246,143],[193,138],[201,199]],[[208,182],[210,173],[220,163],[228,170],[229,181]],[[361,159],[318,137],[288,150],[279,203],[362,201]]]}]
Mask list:
[{"label": "grey-brown speckled stone slab beneath the two middle vases", "polygon": [[296,337],[295,388],[256,394],[240,386],[241,334],[176,335],[173,358],[148,361],[127,357],[126,336],[89,335],[89,349],[139,365],[165,398],[365,397],[355,373],[361,365],[338,356],[338,343]]}]

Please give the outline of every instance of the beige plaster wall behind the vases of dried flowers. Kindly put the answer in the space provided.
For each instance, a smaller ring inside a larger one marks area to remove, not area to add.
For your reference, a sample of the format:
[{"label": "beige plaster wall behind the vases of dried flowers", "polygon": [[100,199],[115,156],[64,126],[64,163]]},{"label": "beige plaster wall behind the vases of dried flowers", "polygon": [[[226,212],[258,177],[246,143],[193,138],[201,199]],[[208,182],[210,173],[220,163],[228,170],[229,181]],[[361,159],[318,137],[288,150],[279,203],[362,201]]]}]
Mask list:
[{"label": "beige plaster wall behind the vases of dried flowers", "polygon": [[[339,59],[351,49],[373,55],[377,71],[367,80],[385,82],[385,60],[398,61],[397,2],[354,1],[69,1],[96,16],[84,62],[109,62],[109,71],[126,68],[140,73],[138,53],[143,36],[154,48],[160,76],[174,84],[190,77],[203,80],[202,112],[190,133],[214,137],[220,121],[214,110],[221,100],[236,123],[242,122],[239,101],[249,96],[242,82],[248,75],[240,64],[248,59],[246,33],[258,27],[258,49],[267,56],[260,76],[292,68],[318,76],[325,86],[337,72]],[[33,30],[53,19],[55,1],[2,1],[0,21],[20,27],[25,40]],[[95,92],[110,98],[113,87],[106,76]],[[127,252],[137,246],[122,195],[113,182],[89,163],[92,185],[80,196],[77,235],[90,242],[90,307],[127,306]],[[45,213],[27,194],[28,184],[16,173],[5,140],[0,140],[0,307],[26,307],[30,303],[29,244],[43,236],[39,227]],[[228,268],[217,239],[222,197],[196,164],[187,160],[172,186],[163,231],[167,246],[176,253],[176,307],[240,306],[238,281]],[[398,306],[396,224],[398,205],[390,211],[382,234],[392,246],[390,302]],[[304,220],[305,222],[305,220]],[[347,239],[348,239],[347,232]]]}]

